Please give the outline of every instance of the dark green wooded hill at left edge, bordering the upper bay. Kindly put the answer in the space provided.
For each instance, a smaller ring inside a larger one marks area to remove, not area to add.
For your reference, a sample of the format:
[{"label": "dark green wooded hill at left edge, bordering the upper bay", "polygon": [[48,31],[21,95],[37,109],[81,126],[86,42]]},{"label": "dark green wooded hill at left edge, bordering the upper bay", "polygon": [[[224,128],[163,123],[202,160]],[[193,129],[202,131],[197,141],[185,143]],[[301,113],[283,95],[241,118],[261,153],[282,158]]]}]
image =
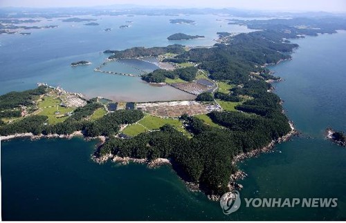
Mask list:
[{"label": "dark green wooded hill at left edge, bordering the upper bay", "polygon": [[44,93],[46,93],[46,86],[39,86],[33,90],[24,90],[22,92],[12,91],[6,95],[1,95],[0,110],[33,105],[33,100]]}]

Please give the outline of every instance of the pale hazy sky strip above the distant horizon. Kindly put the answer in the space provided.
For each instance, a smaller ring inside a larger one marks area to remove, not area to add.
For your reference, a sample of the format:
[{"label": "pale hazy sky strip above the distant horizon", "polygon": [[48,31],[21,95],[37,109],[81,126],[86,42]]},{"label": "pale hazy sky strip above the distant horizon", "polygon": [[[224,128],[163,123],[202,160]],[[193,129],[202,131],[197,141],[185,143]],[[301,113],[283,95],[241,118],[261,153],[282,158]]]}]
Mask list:
[{"label": "pale hazy sky strip above the distant horizon", "polygon": [[242,8],[251,10],[346,12],[346,0],[0,0],[0,7],[70,7],[136,4],[146,6],[180,6]]}]

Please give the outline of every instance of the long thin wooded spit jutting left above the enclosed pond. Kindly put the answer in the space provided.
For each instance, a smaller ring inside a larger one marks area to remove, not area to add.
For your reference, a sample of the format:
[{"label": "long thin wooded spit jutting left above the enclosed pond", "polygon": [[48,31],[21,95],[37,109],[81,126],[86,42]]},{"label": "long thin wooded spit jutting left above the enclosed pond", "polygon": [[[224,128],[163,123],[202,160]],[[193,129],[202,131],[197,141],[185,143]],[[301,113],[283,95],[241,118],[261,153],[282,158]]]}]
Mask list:
[{"label": "long thin wooded spit jutting left above the enclosed pond", "polygon": [[126,50],[105,50],[104,53],[112,53],[109,59],[121,59],[121,58],[133,58],[133,57],[157,57],[158,55],[164,55],[167,52],[174,54],[183,53],[184,46],[179,44],[173,44],[166,47],[152,47],[152,48],[144,48],[144,47],[134,47]]}]

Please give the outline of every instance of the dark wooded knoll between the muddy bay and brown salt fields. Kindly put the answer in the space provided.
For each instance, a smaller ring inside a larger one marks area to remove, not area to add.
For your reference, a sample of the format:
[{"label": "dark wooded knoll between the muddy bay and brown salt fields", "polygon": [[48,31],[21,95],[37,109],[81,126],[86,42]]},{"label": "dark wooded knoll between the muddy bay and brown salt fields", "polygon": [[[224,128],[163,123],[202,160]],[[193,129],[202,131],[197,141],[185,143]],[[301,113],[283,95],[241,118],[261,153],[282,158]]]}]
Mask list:
[{"label": "dark wooded knoll between the muddy bay and brown salt fields", "polygon": [[184,81],[193,81],[196,78],[197,71],[198,69],[195,68],[194,66],[179,68],[176,70],[157,69],[157,70],[154,70],[153,72],[150,72],[147,75],[143,75],[142,79],[149,83],[165,82],[166,77],[170,79],[175,79],[176,77],[179,77],[180,79],[183,79]]}]

